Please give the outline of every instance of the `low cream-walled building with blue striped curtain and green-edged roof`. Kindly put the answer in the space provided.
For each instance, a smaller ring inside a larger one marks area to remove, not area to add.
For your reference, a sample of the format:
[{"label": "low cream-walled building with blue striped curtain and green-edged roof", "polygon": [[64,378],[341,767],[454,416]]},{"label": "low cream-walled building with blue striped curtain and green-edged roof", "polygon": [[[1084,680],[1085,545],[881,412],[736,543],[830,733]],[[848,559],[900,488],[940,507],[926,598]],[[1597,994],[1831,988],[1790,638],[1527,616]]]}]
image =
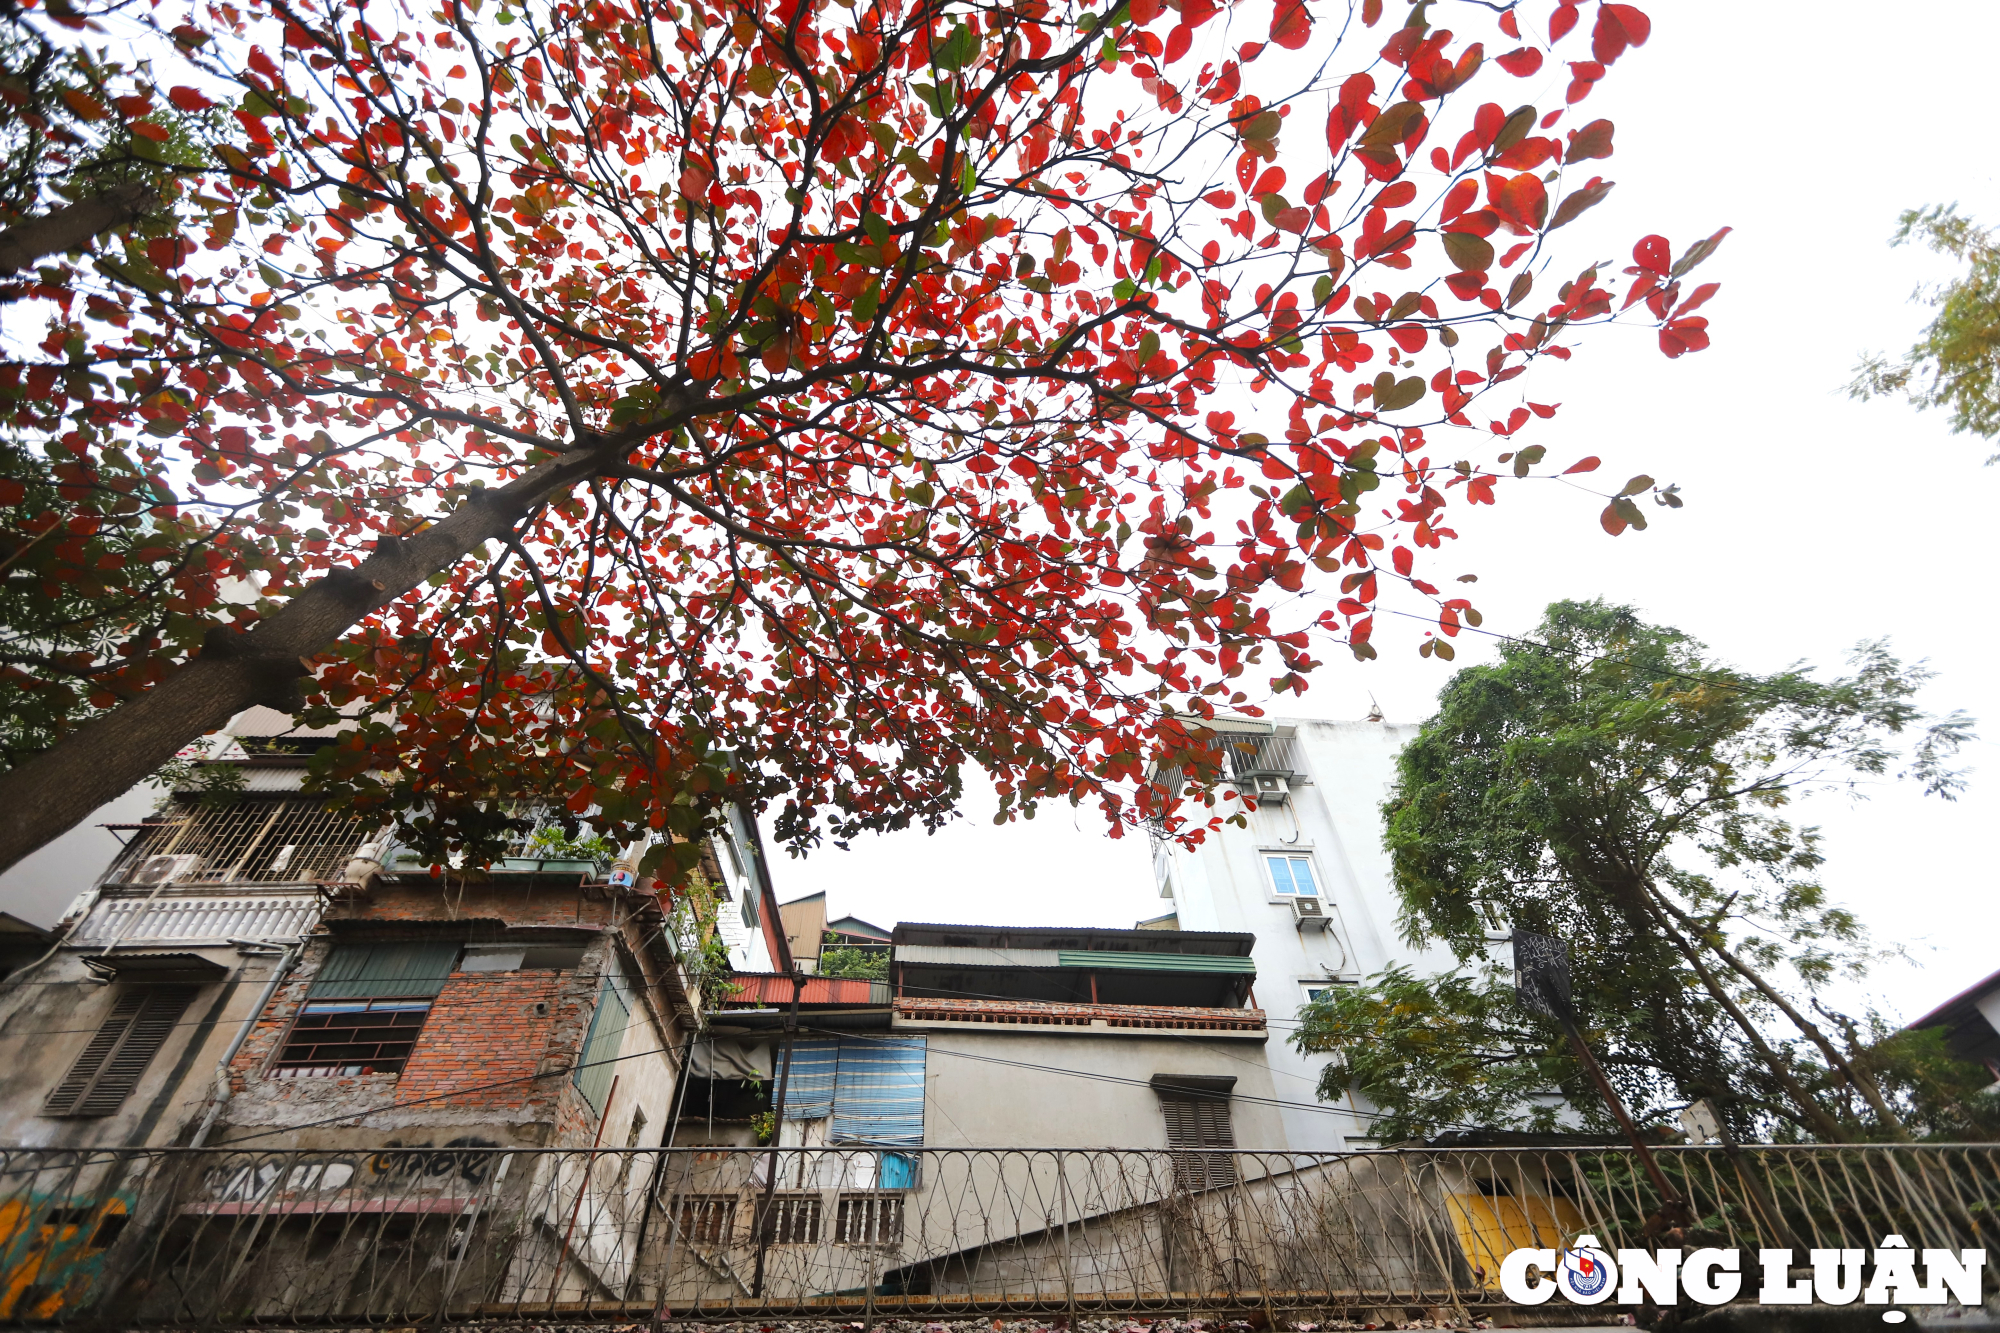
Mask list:
[{"label": "low cream-walled building with blue striped curtain and green-edged roof", "polygon": [[[752,1149],[774,1129],[774,1151],[670,1159],[692,1253],[666,1257],[666,1281],[944,1289],[1050,1215],[1234,1187],[1234,1149],[1284,1149],[1252,943],[904,923],[888,981],[738,975],[672,1141]],[[1074,1183],[1070,1153],[1090,1163]],[[910,1219],[966,1245],[898,1265]]]}]

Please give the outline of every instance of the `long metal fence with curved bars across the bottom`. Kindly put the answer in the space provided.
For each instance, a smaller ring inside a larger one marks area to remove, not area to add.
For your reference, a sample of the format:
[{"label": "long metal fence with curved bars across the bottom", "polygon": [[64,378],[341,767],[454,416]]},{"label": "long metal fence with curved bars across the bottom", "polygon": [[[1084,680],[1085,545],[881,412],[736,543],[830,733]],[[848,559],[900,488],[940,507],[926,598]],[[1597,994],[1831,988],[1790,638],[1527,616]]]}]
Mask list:
[{"label": "long metal fence with curved bars across the bottom", "polygon": [[[1990,1243],[1994,1147],[1664,1149],[1682,1245]],[[1624,1151],[0,1151],[0,1319],[366,1327],[1502,1305]],[[1754,1265],[1746,1265],[1754,1295]],[[1992,1281],[1988,1277],[1988,1281]]]}]

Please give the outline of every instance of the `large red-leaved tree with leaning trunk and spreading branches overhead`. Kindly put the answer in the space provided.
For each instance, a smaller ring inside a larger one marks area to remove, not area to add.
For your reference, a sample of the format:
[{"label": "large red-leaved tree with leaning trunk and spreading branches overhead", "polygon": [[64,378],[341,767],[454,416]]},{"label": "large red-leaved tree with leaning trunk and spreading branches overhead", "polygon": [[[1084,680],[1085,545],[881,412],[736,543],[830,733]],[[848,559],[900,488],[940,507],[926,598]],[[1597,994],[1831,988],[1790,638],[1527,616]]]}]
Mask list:
[{"label": "large red-leaved tree with leaning trunk and spreading branches overhead", "polygon": [[934,823],[964,763],[1198,837],[1144,777],[1214,773],[1176,717],[1372,656],[1392,582],[1426,652],[1478,622],[1422,562],[1556,470],[1536,362],[1634,306],[1708,340],[1720,234],[1556,258],[1630,4],[438,4],[144,20],[114,114],[234,130],[178,242],[44,270],[0,388],[76,468],[170,440],[262,600],[0,777],[0,863],[300,689],[366,715],[326,789],[440,859],[520,793]]}]

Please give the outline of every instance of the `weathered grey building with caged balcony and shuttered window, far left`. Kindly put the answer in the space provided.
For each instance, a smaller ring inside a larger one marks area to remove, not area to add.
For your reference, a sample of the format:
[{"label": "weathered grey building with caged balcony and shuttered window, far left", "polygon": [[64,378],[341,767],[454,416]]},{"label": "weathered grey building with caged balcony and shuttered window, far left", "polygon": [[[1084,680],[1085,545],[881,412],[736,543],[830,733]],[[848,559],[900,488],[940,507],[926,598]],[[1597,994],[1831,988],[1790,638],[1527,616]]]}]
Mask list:
[{"label": "weathered grey building with caged balcony and shuttered window, far left", "polygon": [[[42,883],[74,903],[26,949],[20,931],[6,941],[0,1143],[194,1135],[218,1071],[366,851],[366,829],[300,791],[308,755],[270,743],[288,723],[254,709],[220,737],[218,763],[244,779],[234,801],[120,799],[100,815],[136,817],[88,831],[114,849],[110,865],[72,863],[68,883]],[[94,845],[78,839],[72,851]]]}]

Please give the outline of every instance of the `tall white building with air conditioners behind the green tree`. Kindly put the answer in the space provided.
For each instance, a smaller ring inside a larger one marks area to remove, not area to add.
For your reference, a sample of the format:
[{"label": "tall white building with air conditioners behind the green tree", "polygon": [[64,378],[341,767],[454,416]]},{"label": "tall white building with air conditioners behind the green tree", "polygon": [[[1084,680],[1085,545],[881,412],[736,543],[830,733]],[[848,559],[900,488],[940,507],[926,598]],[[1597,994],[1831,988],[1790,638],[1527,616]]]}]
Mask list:
[{"label": "tall white building with air conditioners behind the green tree", "polygon": [[[1290,1041],[1298,1009],[1316,991],[1352,985],[1390,963],[1448,971],[1448,951],[1402,943],[1388,853],[1382,849],[1382,801],[1396,777],[1396,755],[1416,737],[1414,725],[1308,719],[1218,723],[1230,739],[1234,787],[1260,791],[1248,827],[1226,825],[1198,851],[1162,843],[1154,855],[1160,897],[1174,911],[1154,923],[1182,931],[1256,935],[1256,1003],[1270,1015],[1270,1059],[1282,1109],[1284,1145],[1340,1151],[1372,1147],[1368,1107],[1352,1099],[1320,1103],[1326,1057],[1302,1055]],[[1226,813],[1244,813],[1230,801]]]}]

